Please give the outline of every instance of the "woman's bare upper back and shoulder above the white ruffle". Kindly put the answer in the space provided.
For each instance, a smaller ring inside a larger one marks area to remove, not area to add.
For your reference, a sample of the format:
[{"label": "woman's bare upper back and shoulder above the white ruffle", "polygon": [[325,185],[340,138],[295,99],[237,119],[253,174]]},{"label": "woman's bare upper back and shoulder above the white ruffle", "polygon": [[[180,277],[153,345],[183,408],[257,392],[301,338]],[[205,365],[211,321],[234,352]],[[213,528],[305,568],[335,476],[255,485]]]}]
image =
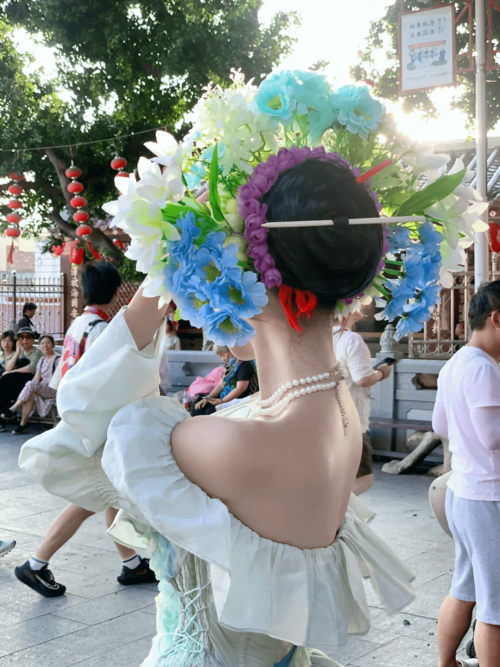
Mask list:
[{"label": "woman's bare upper back and shoulder above the white ruffle", "polygon": [[332,544],[361,457],[361,428],[340,387],[305,396],[278,418],[196,417],[180,424],[172,450],[180,468],[261,537],[303,549]]}]

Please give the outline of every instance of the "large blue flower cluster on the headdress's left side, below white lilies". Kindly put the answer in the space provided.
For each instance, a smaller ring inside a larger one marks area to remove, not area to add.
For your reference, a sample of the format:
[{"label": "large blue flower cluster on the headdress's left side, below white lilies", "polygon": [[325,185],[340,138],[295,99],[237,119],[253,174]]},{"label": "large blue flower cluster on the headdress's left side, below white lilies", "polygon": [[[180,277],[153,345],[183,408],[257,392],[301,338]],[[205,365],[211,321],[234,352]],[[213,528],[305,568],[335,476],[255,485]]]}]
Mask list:
[{"label": "large blue flower cluster on the headdress's left side, below white lilies", "polygon": [[214,343],[245,345],[255,334],[245,320],[262,312],[266,288],[253,271],[238,266],[238,246],[224,247],[224,232],[210,232],[200,243],[191,212],[177,220],[177,227],[181,238],[167,245],[164,277],[182,318],[203,328]]}]

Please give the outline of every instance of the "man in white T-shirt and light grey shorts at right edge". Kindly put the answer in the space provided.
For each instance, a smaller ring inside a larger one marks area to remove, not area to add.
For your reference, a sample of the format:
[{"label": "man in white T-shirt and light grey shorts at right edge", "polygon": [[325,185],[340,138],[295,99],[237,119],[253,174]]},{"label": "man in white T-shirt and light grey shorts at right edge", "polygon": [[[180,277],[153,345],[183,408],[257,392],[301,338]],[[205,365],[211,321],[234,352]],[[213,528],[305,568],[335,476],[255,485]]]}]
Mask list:
[{"label": "man in white T-shirt and light grey shorts at right edge", "polygon": [[456,652],[476,606],[481,667],[500,665],[500,281],[471,299],[472,336],[441,369],[432,426],[450,441],[446,518],[455,573],[439,613],[439,667]]}]

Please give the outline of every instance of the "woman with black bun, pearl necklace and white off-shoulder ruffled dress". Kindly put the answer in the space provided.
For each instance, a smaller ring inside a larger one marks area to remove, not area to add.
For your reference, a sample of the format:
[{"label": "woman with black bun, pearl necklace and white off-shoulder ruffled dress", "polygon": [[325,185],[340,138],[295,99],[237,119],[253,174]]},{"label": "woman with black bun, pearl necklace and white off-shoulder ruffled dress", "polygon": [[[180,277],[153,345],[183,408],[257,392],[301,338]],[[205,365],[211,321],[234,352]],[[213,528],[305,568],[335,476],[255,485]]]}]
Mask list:
[{"label": "woman with black bun, pearl necklace and white off-shoulder ruffled dress", "polygon": [[[265,202],[268,220],[377,215],[333,161],[285,171]],[[344,227],[286,232],[268,244],[287,287],[267,290],[252,343],[233,348],[256,359],[264,404],[191,419],[158,397],[165,308],[140,290],[63,379],[61,423],[21,452],[52,493],[121,507],[114,539],[149,548],[161,595],[144,667],[334,667],[328,654],[369,629],[363,576],[389,612],[414,598],[411,573],[355,512],[361,428],[331,334],[333,305],[377,270],[382,229],[361,246]],[[299,332],[281,297],[306,293],[318,306]]]}]

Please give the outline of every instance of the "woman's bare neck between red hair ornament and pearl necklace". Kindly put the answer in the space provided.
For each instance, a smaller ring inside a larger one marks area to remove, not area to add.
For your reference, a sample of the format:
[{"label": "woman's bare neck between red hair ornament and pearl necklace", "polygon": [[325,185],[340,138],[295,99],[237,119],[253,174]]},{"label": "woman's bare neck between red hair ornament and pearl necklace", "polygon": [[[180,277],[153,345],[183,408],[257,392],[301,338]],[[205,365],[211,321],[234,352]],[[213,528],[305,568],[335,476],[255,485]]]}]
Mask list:
[{"label": "woman's bare neck between red hair ornament and pearl necklace", "polygon": [[313,318],[304,323],[302,333],[293,331],[286,321],[255,322],[252,345],[263,399],[287,382],[327,373],[336,365],[331,320],[321,314]]}]

